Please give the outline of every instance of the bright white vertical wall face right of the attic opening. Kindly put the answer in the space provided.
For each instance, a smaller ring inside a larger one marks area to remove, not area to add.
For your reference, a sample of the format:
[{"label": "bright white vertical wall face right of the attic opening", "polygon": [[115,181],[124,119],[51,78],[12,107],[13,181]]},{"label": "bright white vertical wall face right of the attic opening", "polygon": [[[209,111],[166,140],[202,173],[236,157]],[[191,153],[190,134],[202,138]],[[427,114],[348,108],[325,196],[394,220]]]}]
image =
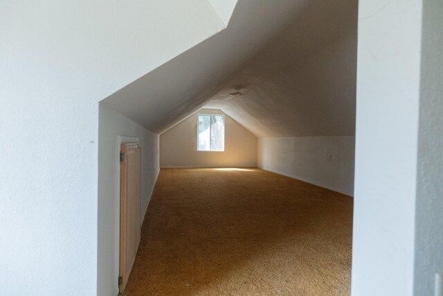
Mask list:
[{"label": "bright white vertical wall face right of the attic opening", "polygon": [[359,1],[352,295],[413,295],[422,0]]}]

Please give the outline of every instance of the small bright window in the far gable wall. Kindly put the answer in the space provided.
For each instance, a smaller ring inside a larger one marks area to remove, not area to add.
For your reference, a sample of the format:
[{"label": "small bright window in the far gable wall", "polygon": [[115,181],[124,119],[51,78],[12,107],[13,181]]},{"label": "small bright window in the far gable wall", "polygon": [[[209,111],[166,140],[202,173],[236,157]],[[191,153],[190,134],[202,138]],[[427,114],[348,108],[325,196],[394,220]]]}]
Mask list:
[{"label": "small bright window in the far gable wall", "polygon": [[224,151],[224,115],[199,114],[197,151]]}]

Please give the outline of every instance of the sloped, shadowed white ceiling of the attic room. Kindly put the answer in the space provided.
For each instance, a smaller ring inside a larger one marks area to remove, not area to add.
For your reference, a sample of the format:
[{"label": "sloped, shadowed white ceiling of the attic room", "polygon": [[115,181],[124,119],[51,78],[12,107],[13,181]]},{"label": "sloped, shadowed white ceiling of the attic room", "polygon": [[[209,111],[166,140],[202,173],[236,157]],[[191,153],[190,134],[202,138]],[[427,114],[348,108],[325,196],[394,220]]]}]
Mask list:
[{"label": "sloped, shadowed white ceiling of the attic room", "polygon": [[356,17],[356,0],[240,0],[226,30],[103,103],[157,133],[204,106],[259,137],[354,134]]}]

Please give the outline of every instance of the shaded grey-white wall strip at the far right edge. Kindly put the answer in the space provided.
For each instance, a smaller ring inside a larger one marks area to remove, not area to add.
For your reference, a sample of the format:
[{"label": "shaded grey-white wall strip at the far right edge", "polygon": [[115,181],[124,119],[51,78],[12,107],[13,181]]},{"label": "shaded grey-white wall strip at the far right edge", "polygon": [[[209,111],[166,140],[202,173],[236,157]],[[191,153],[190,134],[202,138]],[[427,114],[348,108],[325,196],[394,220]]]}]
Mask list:
[{"label": "shaded grey-white wall strip at the far right edge", "polygon": [[443,274],[443,1],[424,1],[415,209],[415,295]]}]

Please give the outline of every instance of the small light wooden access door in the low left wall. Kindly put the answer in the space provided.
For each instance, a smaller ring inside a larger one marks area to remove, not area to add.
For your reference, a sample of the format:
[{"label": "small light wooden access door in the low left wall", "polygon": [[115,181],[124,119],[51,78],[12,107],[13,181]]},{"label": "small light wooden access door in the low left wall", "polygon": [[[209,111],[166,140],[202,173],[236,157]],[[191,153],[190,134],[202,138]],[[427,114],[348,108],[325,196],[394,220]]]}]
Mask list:
[{"label": "small light wooden access door in the low left wall", "polygon": [[120,153],[120,293],[126,288],[141,238],[141,145],[123,143]]}]

